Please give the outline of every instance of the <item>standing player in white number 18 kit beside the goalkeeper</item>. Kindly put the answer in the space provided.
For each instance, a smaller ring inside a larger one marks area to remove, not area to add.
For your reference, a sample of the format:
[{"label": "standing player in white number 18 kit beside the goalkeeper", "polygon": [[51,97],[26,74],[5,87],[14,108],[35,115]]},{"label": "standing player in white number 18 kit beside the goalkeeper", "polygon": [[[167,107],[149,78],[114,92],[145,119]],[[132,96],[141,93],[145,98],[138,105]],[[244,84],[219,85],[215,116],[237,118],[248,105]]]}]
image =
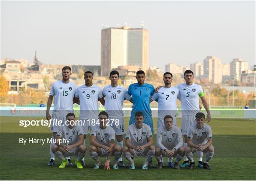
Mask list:
[{"label": "standing player in white number 18 kit beside the goalkeeper", "polygon": [[[124,87],[118,85],[118,71],[111,71],[109,79],[111,85],[105,86],[102,90],[103,97],[105,97],[105,109],[110,120],[118,120],[118,124],[111,121],[112,124],[110,126],[115,130],[117,144],[123,148],[123,135],[125,130],[124,113],[122,110],[123,102],[124,100],[132,102],[132,99],[128,94],[128,91]],[[122,162],[122,157],[119,158],[119,166],[125,166]]]}]

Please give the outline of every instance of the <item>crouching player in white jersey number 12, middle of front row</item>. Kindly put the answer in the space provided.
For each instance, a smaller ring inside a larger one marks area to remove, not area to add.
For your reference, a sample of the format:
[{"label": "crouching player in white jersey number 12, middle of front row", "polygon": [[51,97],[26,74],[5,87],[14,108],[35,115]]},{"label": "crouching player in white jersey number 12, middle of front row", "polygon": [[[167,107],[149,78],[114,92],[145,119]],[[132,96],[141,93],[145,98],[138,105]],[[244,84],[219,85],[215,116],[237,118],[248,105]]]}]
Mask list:
[{"label": "crouching player in white jersey number 12, middle of front row", "polygon": [[125,136],[125,147],[123,148],[124,157],[130,162],[130,169],[135,169],[132,156],[146,156],[142,169],[147,169],[149,160],[155,155],[155,146],[153,145],[153,136],[150,126],[143,123],[143,113],[137,111],[135,114],[135,123],[128,127]]}]

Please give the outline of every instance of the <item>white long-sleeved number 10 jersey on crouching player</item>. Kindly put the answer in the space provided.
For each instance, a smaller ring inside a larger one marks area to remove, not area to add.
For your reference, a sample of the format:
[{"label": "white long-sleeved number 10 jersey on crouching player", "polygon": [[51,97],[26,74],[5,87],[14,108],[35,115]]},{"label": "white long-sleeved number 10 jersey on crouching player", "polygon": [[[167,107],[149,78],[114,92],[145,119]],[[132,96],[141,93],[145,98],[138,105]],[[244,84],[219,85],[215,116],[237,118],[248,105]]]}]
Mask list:
[{"label": "white long-sleeved number 10 jersey on crouching player", "polygon": [[173,125],[170,131],[165,126],[159,127],[156,134],[156,145],[162,150],[173,148],[179,149],[183,146],[183,137],[179,127]]}]

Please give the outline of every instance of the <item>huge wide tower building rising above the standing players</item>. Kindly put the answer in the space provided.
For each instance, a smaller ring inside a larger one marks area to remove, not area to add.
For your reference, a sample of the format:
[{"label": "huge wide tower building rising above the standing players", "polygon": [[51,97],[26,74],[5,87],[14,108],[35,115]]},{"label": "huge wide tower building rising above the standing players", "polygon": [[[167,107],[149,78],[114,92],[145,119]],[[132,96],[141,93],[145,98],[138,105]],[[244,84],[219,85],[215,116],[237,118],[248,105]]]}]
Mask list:
[{"label": "huge wide tower building rising above the standing players", "polygon": [[148,31],[144,28],[110,27],[101,30],[101,76],[118,66],[148,69]]}]

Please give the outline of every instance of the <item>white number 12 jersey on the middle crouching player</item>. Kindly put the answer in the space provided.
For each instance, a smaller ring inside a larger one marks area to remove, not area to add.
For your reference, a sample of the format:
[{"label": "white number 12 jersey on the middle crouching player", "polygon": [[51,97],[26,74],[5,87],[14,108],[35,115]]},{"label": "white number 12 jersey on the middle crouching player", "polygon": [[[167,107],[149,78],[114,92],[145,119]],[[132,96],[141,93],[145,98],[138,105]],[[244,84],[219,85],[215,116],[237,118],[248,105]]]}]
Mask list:
[{"label": "white number 12 jersey on the middle crouching player", "polygon": [[147,138],[152,136],[150,126],[143,123],[142,128],[138,129],[135,126],[136,123],[128,126],[125,138],[131,140],[131,144],[134,146],[141,146],[147,143]]}]

